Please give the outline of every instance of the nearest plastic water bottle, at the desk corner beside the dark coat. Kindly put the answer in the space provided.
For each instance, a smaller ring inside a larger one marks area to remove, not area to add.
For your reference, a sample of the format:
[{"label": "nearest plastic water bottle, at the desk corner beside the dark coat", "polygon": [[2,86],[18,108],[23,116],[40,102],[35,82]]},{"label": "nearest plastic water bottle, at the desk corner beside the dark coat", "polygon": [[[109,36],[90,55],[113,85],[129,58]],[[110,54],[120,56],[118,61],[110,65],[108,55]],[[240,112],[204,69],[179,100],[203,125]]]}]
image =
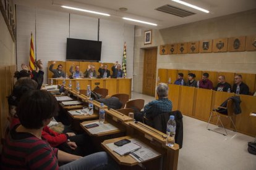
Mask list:
[{"label": "nearest plastic water bottle, at the desk corner beside the dark coat", "polygon": [[168,147],[173,147],[175,144],[175,132],[176,132],[176,122],[174,120],[174,116],[171,115],[166,128],[166,145]]}]

